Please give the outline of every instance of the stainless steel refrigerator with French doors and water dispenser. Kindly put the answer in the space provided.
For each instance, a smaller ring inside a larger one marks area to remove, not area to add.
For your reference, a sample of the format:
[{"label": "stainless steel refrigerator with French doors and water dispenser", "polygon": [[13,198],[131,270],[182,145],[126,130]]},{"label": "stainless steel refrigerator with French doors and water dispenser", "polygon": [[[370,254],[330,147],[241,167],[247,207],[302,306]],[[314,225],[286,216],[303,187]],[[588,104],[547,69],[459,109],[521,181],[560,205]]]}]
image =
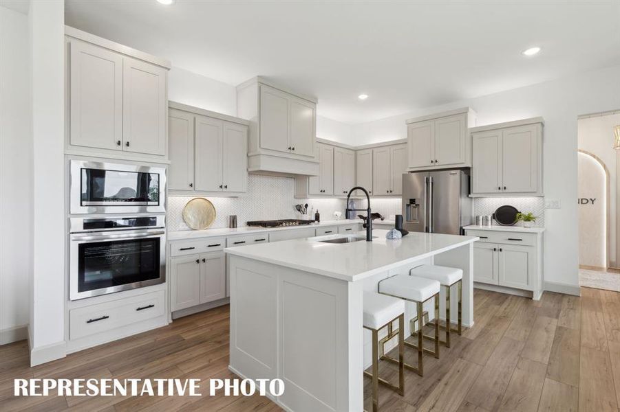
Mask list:
[{"label": "stainless steel refrigerator with French doors and water dispenser", "polygon": [[473,220],[469,169],[403,174],[403,227],[460,235]]}]

